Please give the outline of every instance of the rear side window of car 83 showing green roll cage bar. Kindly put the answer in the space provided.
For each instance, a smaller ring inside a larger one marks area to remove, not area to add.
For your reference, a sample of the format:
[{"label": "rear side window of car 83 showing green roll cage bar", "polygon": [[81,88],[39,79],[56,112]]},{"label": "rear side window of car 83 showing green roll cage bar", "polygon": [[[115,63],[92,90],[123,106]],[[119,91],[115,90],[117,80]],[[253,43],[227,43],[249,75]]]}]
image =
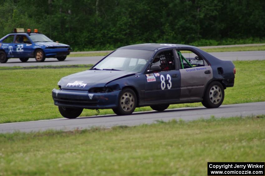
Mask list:
[{"label": "rear side window of car 83 showing green roll cage bar", "polygon": [[177,50],[176,55],[180,60],[181,69],[208,66],[207,62],[200,56],[188,50]]}]

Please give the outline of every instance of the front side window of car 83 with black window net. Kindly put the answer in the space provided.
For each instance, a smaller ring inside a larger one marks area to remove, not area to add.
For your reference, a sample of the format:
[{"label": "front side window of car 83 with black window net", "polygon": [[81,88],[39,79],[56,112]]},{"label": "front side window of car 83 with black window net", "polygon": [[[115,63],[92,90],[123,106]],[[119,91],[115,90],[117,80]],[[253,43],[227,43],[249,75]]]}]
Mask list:
[{"label": "front side window of car 83 with black window net", "polygon": [[172,50],[159,53],[153,60],[152,65],[159,65],[161,71],[175,70],[175,60]]}]

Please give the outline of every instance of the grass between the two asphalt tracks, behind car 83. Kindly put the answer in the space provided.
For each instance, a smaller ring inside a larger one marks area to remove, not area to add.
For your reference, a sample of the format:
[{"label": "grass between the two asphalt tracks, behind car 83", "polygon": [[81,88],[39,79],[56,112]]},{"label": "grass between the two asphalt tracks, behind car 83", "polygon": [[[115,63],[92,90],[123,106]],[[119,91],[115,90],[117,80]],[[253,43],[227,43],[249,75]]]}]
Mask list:
[{"label": "grass between the two asphalt tracks, behind car 83", "polygon": [[[265,101],[265,60],[234,61],[237,69],[235,85],[225,90],[223,104]],[[51,90],[63,76],[88,69],[87,66],[43,69],[0,69],[0,123],[33,121],[61,117],[53,104]],[[171,105],[169,108],[196,107],[201,103]],[[136,111],[149,111],[150,107]],[[113,114],[100,110],[99,115]],[[98,115],[95,110],[84,109],[80,116]]]}]

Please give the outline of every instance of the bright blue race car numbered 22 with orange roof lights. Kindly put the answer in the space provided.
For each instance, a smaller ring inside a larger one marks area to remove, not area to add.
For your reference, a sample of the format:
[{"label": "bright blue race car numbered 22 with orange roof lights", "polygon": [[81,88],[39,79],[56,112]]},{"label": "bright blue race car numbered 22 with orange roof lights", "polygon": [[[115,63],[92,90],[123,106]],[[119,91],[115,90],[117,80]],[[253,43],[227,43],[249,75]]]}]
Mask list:
[{"label": "bright blue race car numbered 22 with orange roof lights", "polygon": [[43,62],[45,58],[57,58],[65,60],[70,54],[70,46],[56,43],[45,35],[34,30],[15,29],[0,39],[0,62],[6,63],[9,58],[19,58],[26,62],[29,58],[35,58],[37,62]]}]

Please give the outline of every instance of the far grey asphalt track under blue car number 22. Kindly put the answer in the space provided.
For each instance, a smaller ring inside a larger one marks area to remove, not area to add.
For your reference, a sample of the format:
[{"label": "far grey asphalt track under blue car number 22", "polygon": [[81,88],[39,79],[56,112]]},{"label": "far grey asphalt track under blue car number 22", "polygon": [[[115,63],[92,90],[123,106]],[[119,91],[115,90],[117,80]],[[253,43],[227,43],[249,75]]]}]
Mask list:
[{"label": "far grey asphalt track under blue car number 22", "polygon": [[[211,55],[222,60],[264,60],[265,51],[233,51],[233,52],[212,52]],[[9,59],[7,63],[0,66],[44,66],[44,65],[76,65],[76,64],[96,64],[104,56],[94,57],[67,57],[65,61],[58,61],[55,58],[47,58],[45,62],[36,62],[30,58],[27,62],[22,63],[19,59]]]}]

